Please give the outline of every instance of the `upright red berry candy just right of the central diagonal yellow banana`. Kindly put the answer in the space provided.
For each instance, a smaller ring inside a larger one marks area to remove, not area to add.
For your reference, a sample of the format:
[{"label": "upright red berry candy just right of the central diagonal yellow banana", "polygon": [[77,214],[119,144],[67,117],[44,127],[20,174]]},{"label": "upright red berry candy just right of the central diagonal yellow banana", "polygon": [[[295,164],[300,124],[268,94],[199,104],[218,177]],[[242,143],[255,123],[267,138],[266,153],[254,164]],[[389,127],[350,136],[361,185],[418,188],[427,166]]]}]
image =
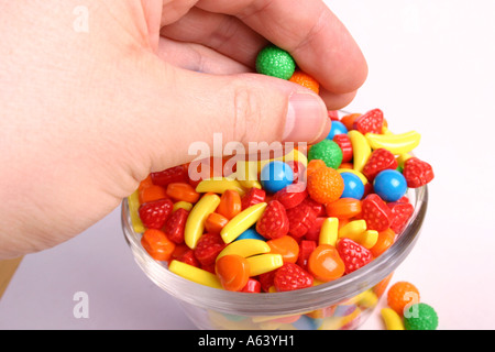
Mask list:
[{"label": "upright red berry candy just right of the central diagonal yellow banana", "polygon": [[289,222],[284,206],[272,200],[256,222],[256,231],[265,239],[278,239],[288,233]]}]

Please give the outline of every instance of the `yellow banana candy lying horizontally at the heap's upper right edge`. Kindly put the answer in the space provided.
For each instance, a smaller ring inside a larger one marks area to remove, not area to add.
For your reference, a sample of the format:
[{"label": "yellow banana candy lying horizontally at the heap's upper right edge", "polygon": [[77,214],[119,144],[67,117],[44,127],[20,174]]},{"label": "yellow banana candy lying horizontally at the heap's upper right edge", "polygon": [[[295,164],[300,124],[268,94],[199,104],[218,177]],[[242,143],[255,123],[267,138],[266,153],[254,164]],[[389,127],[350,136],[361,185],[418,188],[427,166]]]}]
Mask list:
[{"label": "yellow banana candy lying horizontally at the heap's upper right edge", "polygon": [[416,131],[399,134],[366,133],[365,138],[373,150],[386,148],[392,154],[405,154],[419,145],[421,135]]}]

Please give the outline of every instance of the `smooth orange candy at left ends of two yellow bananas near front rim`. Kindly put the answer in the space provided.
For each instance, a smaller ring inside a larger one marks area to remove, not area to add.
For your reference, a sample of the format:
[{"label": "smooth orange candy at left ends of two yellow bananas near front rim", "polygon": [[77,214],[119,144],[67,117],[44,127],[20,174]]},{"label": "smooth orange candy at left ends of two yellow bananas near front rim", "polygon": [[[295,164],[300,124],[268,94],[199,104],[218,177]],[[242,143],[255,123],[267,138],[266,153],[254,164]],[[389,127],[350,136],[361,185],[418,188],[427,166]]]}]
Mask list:
[{"label": "smooth orange candy at left ends of two yellow bananas near front rim", "polygon": [[237,254],[220,257],[215,265],[215,271],[227,290],[241,290],[250,278],[250,263]]}]

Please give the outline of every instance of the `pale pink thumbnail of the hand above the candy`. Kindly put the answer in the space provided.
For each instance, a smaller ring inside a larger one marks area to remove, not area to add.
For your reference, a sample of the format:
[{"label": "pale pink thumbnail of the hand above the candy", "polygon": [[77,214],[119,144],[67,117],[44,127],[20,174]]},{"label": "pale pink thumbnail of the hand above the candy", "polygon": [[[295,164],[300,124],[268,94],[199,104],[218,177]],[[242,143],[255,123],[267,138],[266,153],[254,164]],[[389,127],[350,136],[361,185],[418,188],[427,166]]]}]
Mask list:
[{"label": "pale pink thumbnail of the hand above the candy", "polygon": [[295,92],[289,97],[283,141],[312,143],[322,139],[328,127],[327,107],[318,96]]}]

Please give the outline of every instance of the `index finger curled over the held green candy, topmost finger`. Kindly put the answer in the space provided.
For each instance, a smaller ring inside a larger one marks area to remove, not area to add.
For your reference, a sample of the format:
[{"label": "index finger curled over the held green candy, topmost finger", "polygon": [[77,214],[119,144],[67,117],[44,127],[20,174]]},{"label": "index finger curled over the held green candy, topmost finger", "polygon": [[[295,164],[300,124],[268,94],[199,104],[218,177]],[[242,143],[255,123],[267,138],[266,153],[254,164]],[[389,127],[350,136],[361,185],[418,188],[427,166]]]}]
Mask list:
[{"label": "index finger curled over the held green candy, topmost finger", "polygon": [[353,92],[367,76],[352,35],[321,0],[199,0],[197,7],[239,18],[333,94]]}]

